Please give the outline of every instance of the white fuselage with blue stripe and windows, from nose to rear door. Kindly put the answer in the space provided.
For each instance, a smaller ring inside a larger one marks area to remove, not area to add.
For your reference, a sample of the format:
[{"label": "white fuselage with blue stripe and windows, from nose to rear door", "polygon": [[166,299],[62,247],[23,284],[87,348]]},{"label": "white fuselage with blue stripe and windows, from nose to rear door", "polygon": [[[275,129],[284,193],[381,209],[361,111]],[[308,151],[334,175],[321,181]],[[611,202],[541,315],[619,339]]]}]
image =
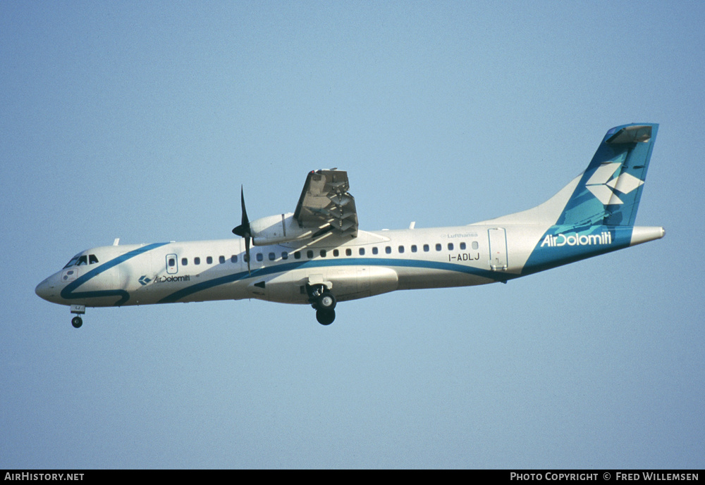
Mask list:
[{"label": "white fuselage with blue stripe and windows, from nose to rear door", "polygon": [[122,306],[243,298],[309,303],[307,283],[325,283],[338,301],[397,289],[470,286],[517,277],[522,253],[528,255],[540,231],[526,241],[527,251],[514,248],[514,258],[508,257],[504,229],[496,227],[360,231],[344,244],[326,244],[323,237],[254,246],[250,271],[241,239],[104,246],[77,255],[37,292],[66,305]]}]

